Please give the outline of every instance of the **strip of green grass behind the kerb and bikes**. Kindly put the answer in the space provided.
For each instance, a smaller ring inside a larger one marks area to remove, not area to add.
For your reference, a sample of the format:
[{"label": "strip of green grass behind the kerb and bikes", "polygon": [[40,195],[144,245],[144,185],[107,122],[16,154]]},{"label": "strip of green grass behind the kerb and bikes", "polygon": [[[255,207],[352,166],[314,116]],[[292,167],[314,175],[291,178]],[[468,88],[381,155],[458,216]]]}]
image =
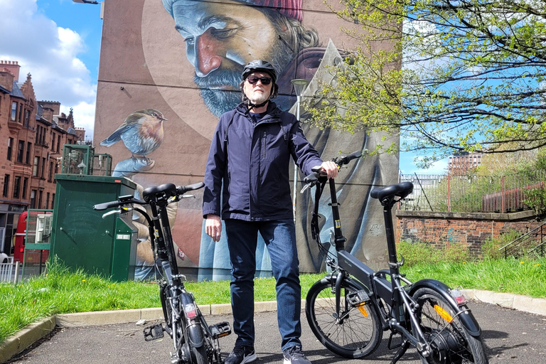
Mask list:
[{"label": "strip of green grass behind the kerb and bikes", "polygon": [[[402,272],[412,281],[434,278],[450,287],[546,297],[546,258],[412,263],[402,267]],[[323,274],[301,274],[302,297],[321,277]],[[272,278],[255,279],[255,300],[273,301],[274,286]],[[188,282],[186,289],[198,304],[230,302],[228,281]],[[17,285],[0,284],[0,343],[29,323],[54,314],[160,306],[159,287],[153,282],[114,283],[50,264],[48,274]]]}]

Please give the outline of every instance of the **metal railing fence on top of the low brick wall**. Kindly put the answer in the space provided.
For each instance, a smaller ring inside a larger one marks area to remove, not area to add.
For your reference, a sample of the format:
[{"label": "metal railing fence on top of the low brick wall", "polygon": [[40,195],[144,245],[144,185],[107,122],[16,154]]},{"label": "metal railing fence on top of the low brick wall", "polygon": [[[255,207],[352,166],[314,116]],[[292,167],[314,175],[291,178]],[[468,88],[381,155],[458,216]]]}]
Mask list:
[{"label": "metal railing fence on top of the low brick wall", "polygon": [[413,193],[402,203],[402,210],[453,213],[510,213],[529,210],[526,192],[544,188],[546,173],[508,176],[400,175],[412,181]]}]

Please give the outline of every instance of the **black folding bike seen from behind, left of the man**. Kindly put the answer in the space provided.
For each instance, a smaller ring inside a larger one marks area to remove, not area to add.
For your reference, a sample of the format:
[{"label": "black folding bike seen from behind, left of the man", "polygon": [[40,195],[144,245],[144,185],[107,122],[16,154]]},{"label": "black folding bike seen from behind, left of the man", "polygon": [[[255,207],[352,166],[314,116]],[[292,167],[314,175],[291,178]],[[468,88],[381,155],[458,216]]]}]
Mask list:
[{"label": "black folding bike seen from behind, left of the man", "polygon": [[[145,188],[142,193],[144,200],[138,200],[134,196],[120,196],[118,200],[94,206],[95,210],[119,208],[105,213],[102,215],[103,218],[113,213],[128,213],[133,210],[146,218],[154,261],[157,256],[156,262],[159,262],[158,265],[161,267],[159,271],[164,272],[159,281],[159,295],[165,326],[157,323],[144,328],[144,339],[151,341],[162,338],[166,331],[173,340],[174,351],[171,352],[173,364],[223,364],[218,338],[231,333],[230,324],[227,322],[208,326],[193,294],[184,288],[182,279],[185,276],[178,272],[176,264],[167,205],[176,203],[181,198],[194,197],[184,193],[203,186],[202,182],[178,187],[173,183],[164,183],[161,186]],[[149,205],[151,217],[144,208],[136,208],[135,205]]]}]

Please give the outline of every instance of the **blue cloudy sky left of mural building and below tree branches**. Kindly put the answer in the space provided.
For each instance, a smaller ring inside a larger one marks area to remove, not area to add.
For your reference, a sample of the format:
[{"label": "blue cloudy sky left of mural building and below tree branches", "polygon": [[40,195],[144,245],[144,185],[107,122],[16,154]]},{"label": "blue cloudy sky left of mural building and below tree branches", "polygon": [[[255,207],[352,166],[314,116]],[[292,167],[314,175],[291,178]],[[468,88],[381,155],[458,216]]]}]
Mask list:
[{"label": "blue cloudy sky left of mural building and below tree branches", "polygon": [[[92,139],[102,33],[100,5],[0,0],[0,11],[0,60],[18,61],[20,82],[31,73],[37,100],[58,101],[66,114],[72,107],[75,126],[85,128],[87,139]],[[440,161],[420,170],[412,154],[400,155],[403,173],[444,173],[445,168],[446,161]]]}]

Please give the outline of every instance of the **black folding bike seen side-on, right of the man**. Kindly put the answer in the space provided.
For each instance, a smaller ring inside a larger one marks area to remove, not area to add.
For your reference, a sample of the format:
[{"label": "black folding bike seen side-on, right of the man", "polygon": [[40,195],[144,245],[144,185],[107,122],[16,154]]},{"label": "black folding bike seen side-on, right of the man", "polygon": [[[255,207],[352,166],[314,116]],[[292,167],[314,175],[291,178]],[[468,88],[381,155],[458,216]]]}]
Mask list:
[{"label": "black folding bike seen side-on, right of the man", "polygon": [[[359,158],[360,152],[333,159],[339,167]],[[333,178],[321,176],[319,168],[304,179],[302,192],[316,186],[311,235],[319,244],[331,274],[316,282],[306,297],[305,312],[316,338],[345,358],[363,358],[378,348],[383,331],[390,331],[388,348],[398,348],[391,364],[410,346],[422,363],[487,364],[481,329],[461,291],[435,279],[410,282],[400,273],[404,258],[397,259],[391,210],[413,191],[411,182],[374,188],[370,196],[383,206],[389,269],[375,272],[345,250],[339,203]],[[319,200],[329,182],[333,236],[323,245],[319,228]],[[336,255],[329,252],[333,245]],[[396,336],[396,342],[393,338]]]}]

